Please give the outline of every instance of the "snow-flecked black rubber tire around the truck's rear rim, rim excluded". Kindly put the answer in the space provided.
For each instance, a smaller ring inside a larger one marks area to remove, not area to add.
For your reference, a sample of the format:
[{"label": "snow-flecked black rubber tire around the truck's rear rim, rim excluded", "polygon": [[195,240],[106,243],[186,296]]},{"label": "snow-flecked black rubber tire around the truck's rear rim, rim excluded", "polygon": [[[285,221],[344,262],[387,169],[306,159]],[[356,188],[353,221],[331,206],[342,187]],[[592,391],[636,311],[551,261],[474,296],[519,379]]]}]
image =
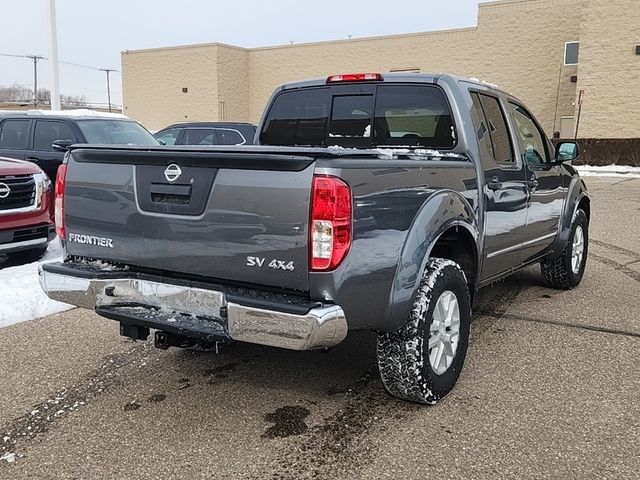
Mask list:
[{"label": "snow-flecked black rubber tire around the truck's rear rim, rim excluded", "polygon": [[[437,374],[429,361],[430,327],[438,299],[452,292],[458,301],[460,330],[451,365]],[[442,258],[427,262],[407,323],[396,332],[378,335],[378,368],[387,391],[398,398],[434,404],[454,387],[469,343],[471,299],[460,266]]]}]

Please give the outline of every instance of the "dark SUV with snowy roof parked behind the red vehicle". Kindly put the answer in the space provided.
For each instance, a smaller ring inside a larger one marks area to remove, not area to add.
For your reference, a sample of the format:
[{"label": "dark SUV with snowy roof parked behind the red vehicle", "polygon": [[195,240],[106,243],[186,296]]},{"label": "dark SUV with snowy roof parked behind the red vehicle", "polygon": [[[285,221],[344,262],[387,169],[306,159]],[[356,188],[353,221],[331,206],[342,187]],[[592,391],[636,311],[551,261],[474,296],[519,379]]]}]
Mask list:
[{"label": "dark SUV with snowy roof parked behind the red vehicle", "polygon": [[52,181],[66,148],[74,143],[158,145],[142,125],[116,113],[0,112],[0,156],[35,163]]}]

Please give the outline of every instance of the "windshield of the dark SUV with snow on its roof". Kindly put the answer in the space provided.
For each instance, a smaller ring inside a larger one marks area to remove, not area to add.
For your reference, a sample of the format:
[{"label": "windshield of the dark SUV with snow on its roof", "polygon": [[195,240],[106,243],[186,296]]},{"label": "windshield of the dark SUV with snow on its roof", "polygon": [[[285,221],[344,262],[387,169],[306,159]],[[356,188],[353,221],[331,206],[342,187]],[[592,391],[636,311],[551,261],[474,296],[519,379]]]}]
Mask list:
[{"label": "windshield of the dark SUV with snow on its roof", "polygon": [[129,120],[78,120],[87,143],[103,145],[158,145],[158,141],[139,123]]}]

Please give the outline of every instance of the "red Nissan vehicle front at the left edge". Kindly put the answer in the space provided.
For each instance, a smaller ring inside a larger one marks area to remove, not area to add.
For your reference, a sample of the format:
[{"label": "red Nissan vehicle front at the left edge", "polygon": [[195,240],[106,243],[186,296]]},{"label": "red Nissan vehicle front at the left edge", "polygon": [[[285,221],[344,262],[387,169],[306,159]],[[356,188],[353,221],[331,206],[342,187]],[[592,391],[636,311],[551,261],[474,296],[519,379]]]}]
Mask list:
[{"label": "red Nissan vehicle front at the left edge", "polygon": [[55,237],[53,188],[36,165],[0,157],[0,255],[37,260]]}]

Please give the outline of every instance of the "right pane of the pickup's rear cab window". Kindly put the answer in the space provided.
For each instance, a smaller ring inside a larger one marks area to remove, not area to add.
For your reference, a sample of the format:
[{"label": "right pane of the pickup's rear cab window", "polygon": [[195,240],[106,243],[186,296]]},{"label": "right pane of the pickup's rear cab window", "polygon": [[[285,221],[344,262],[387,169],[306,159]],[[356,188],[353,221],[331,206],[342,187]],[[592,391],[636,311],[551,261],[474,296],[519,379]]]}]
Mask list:
[{"label": "right pane of the pickup's rear cab window", "polygon": [[444,93],[432,86],[378,87],[375,142],[453,148],[456,135]]}]

